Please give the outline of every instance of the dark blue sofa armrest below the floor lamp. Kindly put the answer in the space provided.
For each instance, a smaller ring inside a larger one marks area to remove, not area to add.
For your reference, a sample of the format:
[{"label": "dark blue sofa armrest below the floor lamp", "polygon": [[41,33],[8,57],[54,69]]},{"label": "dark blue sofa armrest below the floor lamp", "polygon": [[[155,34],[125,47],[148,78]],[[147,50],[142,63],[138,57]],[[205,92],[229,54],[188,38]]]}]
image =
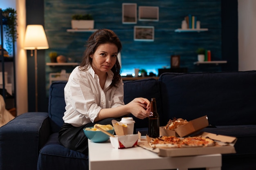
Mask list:
[{"label": "dark blue sofa armrest below the floor lamp", "polygon": [[0,169],[35,170],[49,135],[48,113],[24,113],[9,121],[0,128]]}]

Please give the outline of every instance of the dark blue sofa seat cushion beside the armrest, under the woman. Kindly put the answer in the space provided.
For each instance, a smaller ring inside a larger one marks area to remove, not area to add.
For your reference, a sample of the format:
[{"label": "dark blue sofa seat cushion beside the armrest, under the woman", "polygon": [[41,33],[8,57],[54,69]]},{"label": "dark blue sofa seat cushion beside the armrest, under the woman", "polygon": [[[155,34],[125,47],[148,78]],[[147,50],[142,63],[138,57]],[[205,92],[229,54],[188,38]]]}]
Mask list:
[{"label": "dark blue sofa seat cushion beside the armrest, under the woman", "polygon": [[88,170],[88,155],[70,150],[58,141],[58,133],[50,135],[40,150],[38,170]]}]

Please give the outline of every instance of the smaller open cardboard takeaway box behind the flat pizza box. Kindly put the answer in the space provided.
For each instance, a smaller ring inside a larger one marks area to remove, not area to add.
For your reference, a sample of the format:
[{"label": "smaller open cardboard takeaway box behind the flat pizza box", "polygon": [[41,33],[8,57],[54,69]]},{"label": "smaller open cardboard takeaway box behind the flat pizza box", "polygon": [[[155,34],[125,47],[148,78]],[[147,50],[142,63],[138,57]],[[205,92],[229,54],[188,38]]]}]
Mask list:
[{"label": "smaller open cardboard takeaway box behind the flat pizza box", "polygon": [[198,130],[206,128],[209,126],[207,115],[193,119],[187,124],[176,128],[175,130],[164,129],[164,126],[159,128],[160,136],[175,136],[175,137],[184,137],[190,135]]}]

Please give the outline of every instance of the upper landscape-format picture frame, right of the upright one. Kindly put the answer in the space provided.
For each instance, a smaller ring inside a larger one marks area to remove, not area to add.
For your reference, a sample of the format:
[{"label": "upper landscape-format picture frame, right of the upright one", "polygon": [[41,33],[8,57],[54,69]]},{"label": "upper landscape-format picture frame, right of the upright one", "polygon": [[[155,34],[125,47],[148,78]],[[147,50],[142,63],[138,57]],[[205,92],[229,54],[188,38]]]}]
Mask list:
[{"label": "upper landscape-format picture frame, right of the upright one", "polygon": [[139,21],[159,21],[159,7],[139,6]]}]

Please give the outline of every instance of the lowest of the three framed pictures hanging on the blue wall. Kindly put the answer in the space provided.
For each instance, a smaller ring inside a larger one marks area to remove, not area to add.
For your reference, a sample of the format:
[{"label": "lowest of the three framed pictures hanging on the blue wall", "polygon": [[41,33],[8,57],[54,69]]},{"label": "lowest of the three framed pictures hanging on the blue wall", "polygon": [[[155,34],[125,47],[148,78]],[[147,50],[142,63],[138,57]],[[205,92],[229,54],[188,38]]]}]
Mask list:
[{"label": "lowest of the three framed pictures hanging on the blue wall", "polygon": [[135,41],[154,41],[155,27],[154,26],[134,26]]}]

